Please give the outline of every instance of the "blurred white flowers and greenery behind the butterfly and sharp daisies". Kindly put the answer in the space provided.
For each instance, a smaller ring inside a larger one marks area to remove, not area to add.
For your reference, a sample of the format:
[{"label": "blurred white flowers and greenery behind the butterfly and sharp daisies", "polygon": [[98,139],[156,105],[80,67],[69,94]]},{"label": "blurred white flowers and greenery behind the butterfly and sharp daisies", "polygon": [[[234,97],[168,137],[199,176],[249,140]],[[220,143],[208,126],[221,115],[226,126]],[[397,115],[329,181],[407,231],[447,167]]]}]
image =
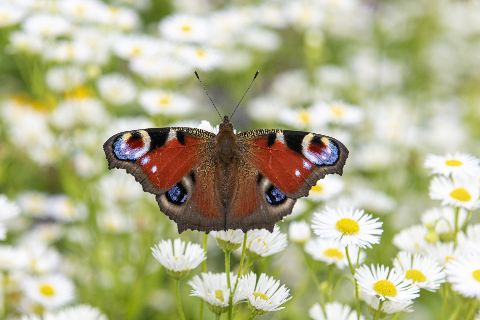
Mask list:
[{"label": "blurred white flowers and greenery behind the butterfly and sharp daisies", "polygon": [[[222,116],[260,71],[233,116],[237,132],[312,131],[348,147],[344,175],[322,180],[278,225],[287,232],[325,205],[364,209],[384,222],[367,264],[391,265],[392,237],[435,204],[427,154],[480,155],[477,0],[0,0],[0,193],[21,209],[6,222],[0,265],[29,261],[2,289],[9,319],[74,302],[110,320],[179,319],[173,282],[150,253],[179,237],[176,225],[132,176],[108,171],[102,145],[125,130],[215,130],[193,70]],[[209,239],[207,269],[223,268]],[[293,296],[261,319],[309,319],[318,293],[299,249],[253,268]],[[54,306],[29,296],[20,278],[48,274],[74,296]],[[182,283],[196,319],[199,299]],[[345,283],[338,300],[351,304],[351,292]],[[422,293],[400,319],[435,319],[439,305]]]}]

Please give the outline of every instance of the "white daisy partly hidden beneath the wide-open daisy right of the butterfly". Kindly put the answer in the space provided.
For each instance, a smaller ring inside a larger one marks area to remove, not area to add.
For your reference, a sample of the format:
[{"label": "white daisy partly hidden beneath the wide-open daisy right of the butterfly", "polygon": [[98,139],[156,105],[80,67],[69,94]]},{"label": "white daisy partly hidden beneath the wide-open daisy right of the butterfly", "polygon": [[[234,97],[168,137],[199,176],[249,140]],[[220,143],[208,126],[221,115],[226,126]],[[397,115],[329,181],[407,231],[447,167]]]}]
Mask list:
[{"label": "white daisy partly hidden beneath the wide-open daisy right of the butterfly", "polygon": [[[347,251],[345,248],[338,246],[338,241],[318,237],[308,241],[304,249],[305,252],[312,256],[313,260],[324,261],[326,264],[335,263],[336,267],[340,270],[348,267]],[[357,265],[358,253],[358,246],[348,246],[348,255],[353,265]],[[363,263],[366,256],[367,254],[361,251],[359,263]]]}]

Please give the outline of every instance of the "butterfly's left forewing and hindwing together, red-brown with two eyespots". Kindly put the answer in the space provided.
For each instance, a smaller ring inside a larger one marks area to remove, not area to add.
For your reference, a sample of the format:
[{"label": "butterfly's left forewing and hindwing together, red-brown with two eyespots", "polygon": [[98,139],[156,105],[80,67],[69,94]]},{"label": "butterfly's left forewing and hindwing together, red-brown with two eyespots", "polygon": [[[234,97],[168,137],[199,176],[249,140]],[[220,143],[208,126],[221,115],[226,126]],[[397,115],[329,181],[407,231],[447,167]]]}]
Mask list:
[{"label": "butterfly's left forewing and hindwing together, red-brown with two eyespots", "polygon": [[118,133],[104,144],[108,168],[123,168],[156,195],[179,232],[225,227],[213,196],[215,135],[196,128],[152,128]]}]

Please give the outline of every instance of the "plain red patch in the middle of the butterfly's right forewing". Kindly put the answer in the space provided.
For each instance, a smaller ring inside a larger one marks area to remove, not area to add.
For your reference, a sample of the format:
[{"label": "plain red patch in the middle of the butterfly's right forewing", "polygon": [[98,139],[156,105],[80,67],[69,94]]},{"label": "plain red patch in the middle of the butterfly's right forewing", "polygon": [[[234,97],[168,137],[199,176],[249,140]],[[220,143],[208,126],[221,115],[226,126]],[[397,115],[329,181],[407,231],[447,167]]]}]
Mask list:
[{"label": "plain red patch in the middle of the butterfly's right forewing", "polygon": [[252,139],[252,143],[255,146],[251,151],[253,163],[283,193],[298,191],[316,167],[278,139],[270,147],[266,137]]}]

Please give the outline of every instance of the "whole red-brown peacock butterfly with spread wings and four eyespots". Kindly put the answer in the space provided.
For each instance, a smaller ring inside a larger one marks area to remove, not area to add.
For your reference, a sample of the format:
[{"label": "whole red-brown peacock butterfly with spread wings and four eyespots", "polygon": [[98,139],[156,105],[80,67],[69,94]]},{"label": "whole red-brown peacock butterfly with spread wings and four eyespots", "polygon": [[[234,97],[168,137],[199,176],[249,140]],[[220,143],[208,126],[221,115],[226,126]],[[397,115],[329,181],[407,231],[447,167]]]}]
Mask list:
[{"label": "whole red-brown peacock butterfly with spread wings and four eyespots", "polygon": [[132,130],[113,135],[103,148],[108,169],[125,169],[145,192],[155,194],[179,233],[272,232],[319,179],[342,175],[348,157],[343,143],[317,133],[235,134],[227,116],[218,134],[183,127]]}]

